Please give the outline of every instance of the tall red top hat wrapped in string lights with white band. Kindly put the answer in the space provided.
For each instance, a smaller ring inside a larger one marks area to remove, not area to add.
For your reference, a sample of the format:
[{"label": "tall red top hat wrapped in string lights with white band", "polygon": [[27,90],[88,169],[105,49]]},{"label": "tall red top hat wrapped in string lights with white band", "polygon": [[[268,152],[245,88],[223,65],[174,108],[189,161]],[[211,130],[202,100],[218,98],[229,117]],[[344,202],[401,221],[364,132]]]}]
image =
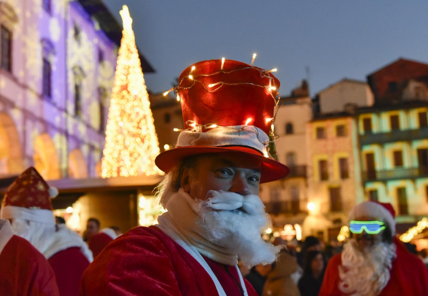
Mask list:
[{"label": "tall red top hat wrapped in string lights with white band", "polygon": [[242,62],[209,60],[189,66],[173,89],[181,101],[185,130],[175,148],[156,157],[156,165],[169,172],[191,155],[234,151],[260,161],[261,183],[285,177],[288,167],[268,149],[278,89],[271,71]]}]

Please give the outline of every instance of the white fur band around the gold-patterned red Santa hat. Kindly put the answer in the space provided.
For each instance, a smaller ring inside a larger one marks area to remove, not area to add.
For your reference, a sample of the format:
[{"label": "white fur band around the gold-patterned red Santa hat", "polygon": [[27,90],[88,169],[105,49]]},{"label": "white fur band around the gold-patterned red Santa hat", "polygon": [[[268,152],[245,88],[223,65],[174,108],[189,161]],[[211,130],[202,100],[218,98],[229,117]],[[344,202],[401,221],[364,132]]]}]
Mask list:
[{"label": "white fur band around the gold-patterned red Santa hat", "polygon": [[1,219],[23,219],[55,225],[53,211],[45,209],[28,209],[26,207],[4,206],[0,210]]}]

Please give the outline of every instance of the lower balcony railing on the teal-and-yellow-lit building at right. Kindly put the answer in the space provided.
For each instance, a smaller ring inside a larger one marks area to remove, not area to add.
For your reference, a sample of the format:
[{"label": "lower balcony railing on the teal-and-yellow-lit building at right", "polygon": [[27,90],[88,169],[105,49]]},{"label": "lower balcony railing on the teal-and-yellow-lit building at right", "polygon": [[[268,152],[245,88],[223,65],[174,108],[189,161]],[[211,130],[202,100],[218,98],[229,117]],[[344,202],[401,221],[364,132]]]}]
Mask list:
[{"label": "lower balcony railing on the teal-and-yellow-lit building at right", "polygon": [[381,171],[365,171],[363,172],[364,182],[371,181],[389,181],[400,179],[417,179],[428,177],[428,167],[416,168],[395,168]]}]

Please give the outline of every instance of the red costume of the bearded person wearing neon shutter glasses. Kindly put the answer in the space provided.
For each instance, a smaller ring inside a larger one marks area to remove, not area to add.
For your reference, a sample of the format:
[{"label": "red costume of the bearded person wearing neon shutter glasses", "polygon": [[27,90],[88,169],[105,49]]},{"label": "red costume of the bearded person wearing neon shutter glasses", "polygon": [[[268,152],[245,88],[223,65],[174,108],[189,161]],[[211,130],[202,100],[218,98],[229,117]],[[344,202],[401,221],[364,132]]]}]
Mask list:
[{"label": "red costume of the bearded person wearing neon shutter glasses", "polygon": [[[422,260],[410,254],[405,246],[395,239],[397,258],[392,262],[391,278],[380,296],[416,296],[428,295],[428,269]],[[324,274],[319,296],[342,296],[338,288],[339,265],[342,254],[330,259]]]}]

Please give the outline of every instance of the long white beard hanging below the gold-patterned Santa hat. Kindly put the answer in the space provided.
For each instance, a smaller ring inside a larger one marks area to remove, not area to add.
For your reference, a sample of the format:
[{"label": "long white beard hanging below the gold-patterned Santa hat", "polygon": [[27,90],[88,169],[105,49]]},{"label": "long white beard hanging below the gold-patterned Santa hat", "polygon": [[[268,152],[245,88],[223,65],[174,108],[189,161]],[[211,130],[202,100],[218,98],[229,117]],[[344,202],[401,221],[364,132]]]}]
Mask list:
[{"label": "long white beard hanging below the gold-patterned Santa hat", "polygon": [[55,233],[55,225],[43,222],[27,221],[23,219],[12,220],[12,231],[28,240],[40,253],[44,253]]}]

